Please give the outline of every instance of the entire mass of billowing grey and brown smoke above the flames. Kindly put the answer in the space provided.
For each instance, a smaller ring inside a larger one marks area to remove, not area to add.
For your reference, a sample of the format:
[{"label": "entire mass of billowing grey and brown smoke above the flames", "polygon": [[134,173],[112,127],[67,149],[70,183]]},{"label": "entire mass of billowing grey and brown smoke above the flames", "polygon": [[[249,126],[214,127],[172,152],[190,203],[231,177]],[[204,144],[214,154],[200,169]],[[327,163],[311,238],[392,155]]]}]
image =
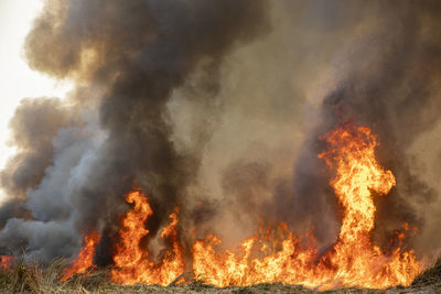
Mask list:
[{"label": "entire mass of billowing grey and brown smoke above the flames", "polygon": [[409,246],[437,249],[426,240],[441,188],[427,176],[439,174],[440,8],[47,1],[26,39],[29,64],[77,89],[17,110],[0,244],[47,262],[75,255],[92,229],[111,243],[136,185],[154,211],[152,236],[179,206],[183,240],[196,229],[228,244],[260,220],[286,221],[326,248],[340,208],[319,138],[351,118],[378,134],[378,160],[397,177],[376,198],[376,241],[406,220],[419,228]]}]

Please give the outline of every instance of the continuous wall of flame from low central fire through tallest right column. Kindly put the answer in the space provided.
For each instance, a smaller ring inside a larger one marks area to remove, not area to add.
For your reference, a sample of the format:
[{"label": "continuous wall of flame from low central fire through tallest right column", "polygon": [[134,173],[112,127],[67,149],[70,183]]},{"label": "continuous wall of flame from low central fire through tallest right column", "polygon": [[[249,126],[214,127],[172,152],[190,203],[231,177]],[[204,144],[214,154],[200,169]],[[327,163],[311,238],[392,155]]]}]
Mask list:
[{"label": "continuous wall of flame from low central fire through tallest right column", "polygon": [[[276,252],[266,252],[263,237],[252,237],[239,244],[240,254],[228,250],[216,253],[220,240],[209,236],[193,246],[193,271],[198,279],[216,286],[280,282],[321,290],[386,288],[413,281],[421,266],[412,250],[398,247],[383,252],[370,240],[376,210],[373,192],[386,195],[395,186],[392,173],[375,159],[376,137],[366,127],[346,123],[323,139],[330,146],[319,157],[335,171],[330,184],[344,210],[333,248],[318,257],[314,247],[304,248],[287,229],[288,236]],[[401,233],[399,239],[404,238]],[[254,249],[263,254],[252,255]]]}]

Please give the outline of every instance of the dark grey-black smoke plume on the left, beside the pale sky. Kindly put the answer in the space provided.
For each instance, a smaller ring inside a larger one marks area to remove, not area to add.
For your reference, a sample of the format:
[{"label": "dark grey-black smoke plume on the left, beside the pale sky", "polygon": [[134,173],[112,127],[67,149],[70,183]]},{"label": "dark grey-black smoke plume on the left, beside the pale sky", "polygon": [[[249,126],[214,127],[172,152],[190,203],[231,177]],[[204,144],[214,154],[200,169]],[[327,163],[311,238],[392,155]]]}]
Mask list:
[{"label": "dark grey-black smoke plume on the left, beside the pale sky", "polygon": [[[43,261],[72,255],[78,232],[118,227],[123,195],[135,185],[151,199],[154,235],[185,203],[201,161],[196,152],[178,152],[171,140],[173,90],[202,65],[216,78],[233,47],[268,31],[266,8],[255,0],[47,1],[26,40],[30,66],[103,95],[71,98],[78,107],[97,105],[89,113],[74,108],[82,126],[57,100],[18,110],[11,128],[21,152],[2,183],[32,217],[3,221],[1,244]],[[98,131],[104,134],[90,133]],[[15,217],[24,214],[17,210]]]}]

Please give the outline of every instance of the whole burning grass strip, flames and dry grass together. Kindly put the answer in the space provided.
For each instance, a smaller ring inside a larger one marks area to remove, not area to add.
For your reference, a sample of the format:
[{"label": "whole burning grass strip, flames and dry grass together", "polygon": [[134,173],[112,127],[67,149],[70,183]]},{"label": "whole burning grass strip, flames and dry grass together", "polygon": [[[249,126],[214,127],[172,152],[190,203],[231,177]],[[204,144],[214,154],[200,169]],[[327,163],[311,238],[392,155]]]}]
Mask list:
[{"label": "whole burning grass strip, flames and dry grass together", "polygon": [[[97,269],[94,263],[100,235],[92,231],[85,235],[84,247],[69,266],[65,266],[63,260],[42,268],[37,263],[13,264],[9,258],[3,258],[2,286],[7,291],[33,293],[301,293],[314,292],[304,287],[334,292],[338,292],[334,288],[346,287],[344,291],[347,292],[351,286],[373,288],[370,292],[375,293],[375,288],[410,286],[423,268],[413,250],[407,251],[401,247],[408,233],[407,224],[400,238],[394,242],[397,247],[389,251],[381,250],[370,239],[376,211],[373,190],[386,196],[395,186],[392,173],[384,170],[375,159],[376,137],[366,127],[346,123],[323,139],[329,149],[319,157],[335,172],[330,184],[344,210],[338,240],[323,255],[318,255],[313,237],[303,243],[286,225],[279,226],[281,237],[268,232],[246,239],[239,247],[241,253],[219,252],[220,239],[209,236],[193,243],[192,261],[187,265],[192,265],[191,272],[201,280],[194,281],[194,277],[183,274],[187,268],[175,229],[179,208],[169,215],[169,224],[161,228],[160,239],[169,246],[162,259],[153,262],[151,252],[140,246],[141,240],[150,235],[146,222],[153,210],[149,198],[133,190],[126,195],[132,208],[121,218],[112,268]],[[268,246],[271,243],[273,249]],[[441,268],[440,263],[432,272],[420,275],[415,286],[435,284],[430,279],[440,276],[438,268]],[[158,286],[140,286],[142,284]]]}]

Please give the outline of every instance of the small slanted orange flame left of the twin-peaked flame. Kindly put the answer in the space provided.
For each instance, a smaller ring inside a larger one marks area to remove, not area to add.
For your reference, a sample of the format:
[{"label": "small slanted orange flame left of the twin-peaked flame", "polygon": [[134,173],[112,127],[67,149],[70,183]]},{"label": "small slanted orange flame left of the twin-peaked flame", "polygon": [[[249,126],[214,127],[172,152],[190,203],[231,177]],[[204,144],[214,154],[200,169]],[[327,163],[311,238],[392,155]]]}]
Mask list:
[{"label": "small slanted orange flame left of the twin-peaked flame", "polygon": [[79,251],[72,266],[63,274],[61,281],[67,281],[76,273],[84,273],[94,265],[95,248],[99,241],[99,235],[96,231],[90,232],[84,238],[84,248]]}]

